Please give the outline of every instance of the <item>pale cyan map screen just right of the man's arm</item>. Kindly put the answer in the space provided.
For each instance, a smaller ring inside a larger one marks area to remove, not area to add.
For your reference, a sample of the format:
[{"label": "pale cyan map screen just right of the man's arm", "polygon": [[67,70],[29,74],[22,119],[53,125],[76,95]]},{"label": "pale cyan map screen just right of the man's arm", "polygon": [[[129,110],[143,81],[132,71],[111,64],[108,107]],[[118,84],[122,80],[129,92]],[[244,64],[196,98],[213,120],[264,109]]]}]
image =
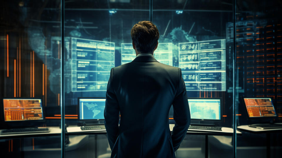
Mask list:
[{"label": "pale cyan map screen just right of the man's arm", "polygon": [[188,99],[191,119],[220,120],[220,99]]}]

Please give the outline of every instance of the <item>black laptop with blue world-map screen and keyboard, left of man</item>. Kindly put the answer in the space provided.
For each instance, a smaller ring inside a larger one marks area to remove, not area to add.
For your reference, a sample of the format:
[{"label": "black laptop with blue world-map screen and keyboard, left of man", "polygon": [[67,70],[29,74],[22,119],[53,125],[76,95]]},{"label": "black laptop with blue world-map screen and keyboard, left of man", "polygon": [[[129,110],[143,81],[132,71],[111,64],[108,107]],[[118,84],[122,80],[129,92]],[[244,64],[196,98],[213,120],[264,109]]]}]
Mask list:
[{"label": "black laptop with blue world-map screen and keyboard, left of man", "polygon": [[78,98],[78,121],[81,127],[68,127],[67,132],[105,131],[106,98]]}]

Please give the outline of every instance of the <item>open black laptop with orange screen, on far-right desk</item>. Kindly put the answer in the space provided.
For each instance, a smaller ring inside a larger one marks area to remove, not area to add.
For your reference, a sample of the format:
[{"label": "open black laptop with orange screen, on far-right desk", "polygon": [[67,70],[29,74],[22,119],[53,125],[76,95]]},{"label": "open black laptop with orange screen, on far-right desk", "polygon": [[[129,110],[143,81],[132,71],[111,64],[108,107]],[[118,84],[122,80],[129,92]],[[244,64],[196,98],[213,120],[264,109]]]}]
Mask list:
[{"label": "open black laptop with orange screen, on far-right desk", "polygon": [[273,123],[277,118],[270,97],[242,97],[248,116],[248,126],[259,129],[282,128],[281,124]]}]

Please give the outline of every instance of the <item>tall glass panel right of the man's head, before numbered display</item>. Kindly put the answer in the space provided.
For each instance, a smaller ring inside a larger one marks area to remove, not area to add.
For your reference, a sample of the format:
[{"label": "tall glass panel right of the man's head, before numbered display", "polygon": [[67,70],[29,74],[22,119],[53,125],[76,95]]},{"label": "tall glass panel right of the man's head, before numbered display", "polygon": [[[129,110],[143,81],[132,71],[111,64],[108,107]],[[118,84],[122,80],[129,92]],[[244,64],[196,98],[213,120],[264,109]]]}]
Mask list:
[{"label": "tall glass panel right of the man's head, before numbered display", "polygon": [[[220,106],[189,101],[191,123],[231,131],[228,136],[187,133],[176,156],[219,157],[216,151],[225,149],[220,157],[233,157],[232,1],[154,0],[152,8],[152,22],[160,31],[159,43],[170,43],[172,65],[182,70],[187,97],[221,100]],[[172,111],[170,123],[174,124]]]}]

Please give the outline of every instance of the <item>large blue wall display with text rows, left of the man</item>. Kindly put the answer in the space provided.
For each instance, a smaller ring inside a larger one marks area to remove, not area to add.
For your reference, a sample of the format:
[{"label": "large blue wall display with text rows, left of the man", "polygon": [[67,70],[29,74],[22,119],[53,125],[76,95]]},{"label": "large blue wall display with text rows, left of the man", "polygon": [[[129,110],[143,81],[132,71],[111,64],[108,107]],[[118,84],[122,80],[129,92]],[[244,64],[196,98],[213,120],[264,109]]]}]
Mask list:
[{"label": "large blue wall display with text rows, left of the man", "polygon": [[105,91],[115,67],[115,43],[71,38],[71,90]]}]

